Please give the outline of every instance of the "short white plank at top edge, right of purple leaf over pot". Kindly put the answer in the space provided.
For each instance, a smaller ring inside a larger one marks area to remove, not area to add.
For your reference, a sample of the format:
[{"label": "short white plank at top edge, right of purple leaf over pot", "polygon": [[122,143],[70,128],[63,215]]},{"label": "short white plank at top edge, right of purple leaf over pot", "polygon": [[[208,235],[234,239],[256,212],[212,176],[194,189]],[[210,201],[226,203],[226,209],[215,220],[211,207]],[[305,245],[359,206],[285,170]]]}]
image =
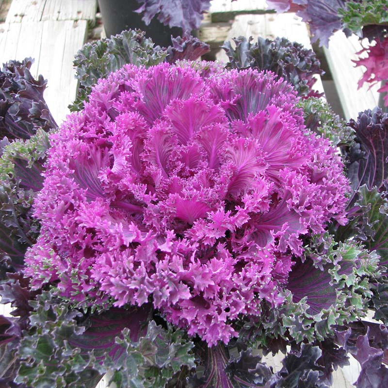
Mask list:
[{"label": "short white plank at top edge, right of purple leaf over pot", "polygon": [[242,14],[263,14],[274,12],[267,9],[265,0],[212,0],[210,3],[211,21],[226,22],[237,15]]}]

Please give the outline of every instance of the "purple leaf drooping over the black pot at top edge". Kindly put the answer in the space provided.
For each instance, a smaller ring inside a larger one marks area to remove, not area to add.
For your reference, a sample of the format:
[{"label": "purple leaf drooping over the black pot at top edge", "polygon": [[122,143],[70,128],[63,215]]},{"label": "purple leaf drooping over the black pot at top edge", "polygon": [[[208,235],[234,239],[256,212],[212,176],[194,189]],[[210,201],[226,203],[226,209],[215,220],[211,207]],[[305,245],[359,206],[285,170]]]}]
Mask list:
[{"label": "purple leaf drooping over the black pot at top edge", "polygon": [[210,0],[137,0],[142,6],[136,11],[143,14],[148,25],[153,17],[170,27],[183,31],[195,30],[201,24],[203,13],[210,8]]}]

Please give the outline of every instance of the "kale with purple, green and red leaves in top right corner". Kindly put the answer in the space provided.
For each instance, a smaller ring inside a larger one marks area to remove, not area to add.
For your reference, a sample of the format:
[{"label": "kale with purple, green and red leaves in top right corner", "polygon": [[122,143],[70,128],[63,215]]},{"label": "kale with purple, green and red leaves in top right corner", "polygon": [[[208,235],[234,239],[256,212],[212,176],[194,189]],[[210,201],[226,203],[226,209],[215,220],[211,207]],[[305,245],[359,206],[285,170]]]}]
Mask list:
[{"label": "kale with purple, green and red leaves in top right corner", "polygon": [[[328,46],[330,36],[343,30],[348,36],[356,33],[360,39],[368,38],[371,45],[357,54],[368,54],[356,61],[357,66],[366,67],[359,87],[364,82],[374,84],[388,80],[388,7],[386,0],[267,0],[270,8],[278,12],[298,7],[297,15],[309,24],[312,42],[319,40],[321,46]],[[384,93],[388,106],[388,86],[379,89]],[[382,105],[381,105],[382,106]]]}]

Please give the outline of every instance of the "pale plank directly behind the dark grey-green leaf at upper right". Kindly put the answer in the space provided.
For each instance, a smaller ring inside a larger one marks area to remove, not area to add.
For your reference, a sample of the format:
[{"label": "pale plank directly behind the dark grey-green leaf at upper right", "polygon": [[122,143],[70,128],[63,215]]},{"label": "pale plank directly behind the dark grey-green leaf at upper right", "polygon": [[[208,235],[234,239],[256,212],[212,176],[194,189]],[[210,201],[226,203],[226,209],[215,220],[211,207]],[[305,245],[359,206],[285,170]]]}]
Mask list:
[{"label": "pale plank directly behind the dark grey-green leaf at upper right", "polygon": [[[226,40],[231,41],[233,38],[239,36],[245,36],[246,38],[252,36],[254,40],[259,36],[269,39],[280,36],[292,42],[301,43],[308,49],[312,49],[307,26],[294,13],[236,16],[232,27],[227,33]],[[228,61],[224,50],[221,50],[217,54],[217,59],[224,63]],[[321,77],[317,76],[316,78],[317,81],[314,84],[314,89],[323,93]]]}]

